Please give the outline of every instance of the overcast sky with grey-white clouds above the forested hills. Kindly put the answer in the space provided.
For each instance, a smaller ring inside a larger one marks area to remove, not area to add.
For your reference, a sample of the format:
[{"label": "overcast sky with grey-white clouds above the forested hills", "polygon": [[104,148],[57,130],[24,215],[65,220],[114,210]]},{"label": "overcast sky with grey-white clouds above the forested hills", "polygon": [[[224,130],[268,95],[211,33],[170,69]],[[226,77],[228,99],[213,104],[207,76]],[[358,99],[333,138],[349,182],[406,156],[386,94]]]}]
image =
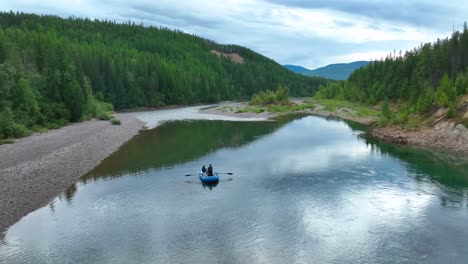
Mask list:
[{"label": "overcast sky with grey-white clouds above the forested hills", "polygon": [[0,0],[0,10],[167,26],[317,68],[445,38],[468,0]]}]

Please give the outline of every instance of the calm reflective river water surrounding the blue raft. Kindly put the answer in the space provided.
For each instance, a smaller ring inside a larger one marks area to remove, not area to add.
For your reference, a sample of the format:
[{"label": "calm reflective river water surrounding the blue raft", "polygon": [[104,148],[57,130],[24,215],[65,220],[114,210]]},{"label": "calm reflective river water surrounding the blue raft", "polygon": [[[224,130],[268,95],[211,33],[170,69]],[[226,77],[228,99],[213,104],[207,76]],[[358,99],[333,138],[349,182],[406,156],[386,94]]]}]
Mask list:
[{"label": "calm reflective river water surrounding the blue raft", "polygon": [[[12,226],[0,263],[468,263],[468,164],[320,117],[173,122]],[[204,186],[212,163],[221,175]]]}]

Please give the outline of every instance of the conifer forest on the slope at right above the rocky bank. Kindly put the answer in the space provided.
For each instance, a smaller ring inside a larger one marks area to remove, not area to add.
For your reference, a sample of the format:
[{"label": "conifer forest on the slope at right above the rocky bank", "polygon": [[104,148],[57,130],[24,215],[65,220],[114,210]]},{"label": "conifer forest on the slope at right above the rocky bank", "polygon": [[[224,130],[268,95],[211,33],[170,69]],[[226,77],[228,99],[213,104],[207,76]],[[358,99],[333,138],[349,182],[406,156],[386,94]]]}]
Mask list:
[{"label": "conifer forest on the slope at right above the rocky bank", "polygon": [[400,105],[403,120],[411,114],[429,114],[446,108],[455,116],[458,100],[468,94],[468,28],[405,53],[392,53],[354,71],[346,81],[321,86],[316,98],[365,104]]}]

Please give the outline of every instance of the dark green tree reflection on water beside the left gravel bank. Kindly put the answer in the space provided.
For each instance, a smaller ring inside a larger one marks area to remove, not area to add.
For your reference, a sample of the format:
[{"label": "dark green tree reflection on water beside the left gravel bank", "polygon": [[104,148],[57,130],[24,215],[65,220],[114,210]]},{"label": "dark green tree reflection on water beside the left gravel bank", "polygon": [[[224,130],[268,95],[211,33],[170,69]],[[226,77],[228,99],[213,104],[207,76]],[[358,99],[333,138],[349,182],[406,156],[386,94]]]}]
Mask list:
[{"label": "dark green tree reflection on water beside the left gravel bank", "polygon": [[82,182],[116,178],[142,171],[171,167],[220,148],[237,148],[277,130],[302,115],[283,116],[274,122],[175,121],[143,131],[98,167]]}]

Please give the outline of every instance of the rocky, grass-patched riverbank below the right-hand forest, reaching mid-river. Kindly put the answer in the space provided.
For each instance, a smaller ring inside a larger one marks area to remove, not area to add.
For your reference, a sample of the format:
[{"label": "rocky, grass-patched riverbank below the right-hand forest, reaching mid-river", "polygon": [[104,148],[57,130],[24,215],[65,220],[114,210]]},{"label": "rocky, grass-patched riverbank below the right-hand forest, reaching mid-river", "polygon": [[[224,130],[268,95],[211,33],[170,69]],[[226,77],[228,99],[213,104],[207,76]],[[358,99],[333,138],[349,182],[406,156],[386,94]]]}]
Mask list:
[{"label": "rocky, grass-patched riverbank below the right-hand forest, reaching mid-river", "polygon": [[[293,99],[292,102],[297,105],[306,103],[304,99]],[[314,107],[296,112],[336,116],[367,125],[370,127],[367,136],[385,142],[468,155],[468,129],[461,124],[439,120],[433,126],[421,127],[415,130],[404,129],[400,126],[379,127],[376,125],[379,118],[378,108],[336,100],[311,100],[308,103],[313,104]],[[247,102],[223,103],[220,106],[202,111],[214,115],[244,118],[274,118],[281,114],[290,113],[288,111],[278,113],[258,111],[256,108],[249,108]]]}]

